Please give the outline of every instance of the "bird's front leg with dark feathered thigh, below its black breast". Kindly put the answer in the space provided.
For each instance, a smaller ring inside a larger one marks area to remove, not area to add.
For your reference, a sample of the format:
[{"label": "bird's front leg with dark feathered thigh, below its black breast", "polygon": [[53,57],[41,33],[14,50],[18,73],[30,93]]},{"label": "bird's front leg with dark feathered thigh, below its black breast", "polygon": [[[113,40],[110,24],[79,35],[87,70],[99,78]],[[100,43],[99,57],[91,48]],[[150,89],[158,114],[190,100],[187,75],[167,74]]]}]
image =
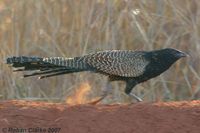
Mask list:
[{"label": "bird's front leg with dark feathered thigh, below its black breast", "polygon": [[131,93],[134,86],[136,86],[138,83],[135,80],[128,80],[126,81],[126,88],[125,93],[131,97],[133,97],[138,102],[142,102],[142,99],[138,96],[136,96],[134,93]]}]

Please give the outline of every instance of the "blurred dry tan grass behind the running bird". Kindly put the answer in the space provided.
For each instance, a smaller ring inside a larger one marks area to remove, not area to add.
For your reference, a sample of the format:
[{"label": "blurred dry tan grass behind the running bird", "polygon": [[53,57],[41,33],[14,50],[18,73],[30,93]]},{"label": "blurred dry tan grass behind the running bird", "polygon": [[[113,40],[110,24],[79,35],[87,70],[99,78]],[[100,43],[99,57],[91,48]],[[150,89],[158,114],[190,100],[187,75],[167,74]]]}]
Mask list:
[{"label": "blurred dry tan grass behind the running bird", "polygon": [[[1,0],[0,99],[66,102],[80,88],[98,97],[106,77],[90,72],[38,80],[20,78],[8,56],[81,56],[100,50],[166,47],[190,55],[167,72],[139,84],[145,101],[200,98],[200,1],[198,0]],[[103,103],[127,103],[125,84],[113,82]]]}]

